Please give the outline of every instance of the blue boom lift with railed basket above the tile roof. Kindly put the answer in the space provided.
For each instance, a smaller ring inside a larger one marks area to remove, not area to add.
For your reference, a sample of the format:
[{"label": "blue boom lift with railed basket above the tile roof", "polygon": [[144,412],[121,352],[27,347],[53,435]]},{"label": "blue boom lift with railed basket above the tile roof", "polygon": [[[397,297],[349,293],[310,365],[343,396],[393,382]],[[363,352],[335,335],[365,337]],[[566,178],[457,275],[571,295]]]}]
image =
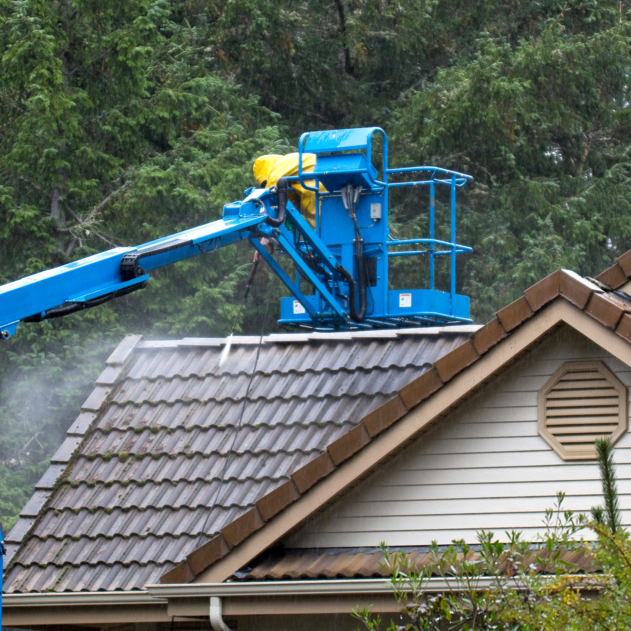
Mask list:
[{"label": "blue boom lift with railed basket above the tile roof", "polygon": [[[382,179],[372,164],[374,134],[382,137]],[[303,153],[316,156],[312,172],[302,170]],[[469,298],[456,293],[456,256],[471,252],[456,243],[456,189],[471,176],[438,167],[388,168],[387,155],[386,134],[379,127],[302,134],[297,175],[278,179],[274,187],[248,189],[245,199],[224,206],[220,220],[0,286],[0,335],[8,339],[20,321],[60,317],[141,289],[151,269],[245,239],[293,294],[281,298],[280,324],[324,331],[471,322]],[[420,179],[389,181],[395,174],[420,174]],[[288,199],[293,182],[315,193],[315,227]],[[429,188],[427,238],[390,239],[388,192],[401,186]],[[437,186],[451,192],[449,241],[435,239]],[[292,259],[295,280],[268,252],[270,243]],[[401,251],[399,246],[422,249]],[[429,288],[389,290],[389,257],[416,255],[429,258]],[[451,264],[449,292],[434,287],[434,262],[440,256]],[[314,293],[305,295],[305,286]]]}]

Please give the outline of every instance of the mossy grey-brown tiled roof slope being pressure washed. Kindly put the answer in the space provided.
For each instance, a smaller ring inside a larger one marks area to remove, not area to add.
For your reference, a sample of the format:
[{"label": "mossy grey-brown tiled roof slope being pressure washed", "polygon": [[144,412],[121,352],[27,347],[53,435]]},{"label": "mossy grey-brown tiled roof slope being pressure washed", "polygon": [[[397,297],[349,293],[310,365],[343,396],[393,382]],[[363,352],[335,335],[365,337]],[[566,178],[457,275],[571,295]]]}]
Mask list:
[{"label": "mossy grey-brown tiled roof slope being pressure washed", "polygon": [[5,591],[143,589],[222,530],[220,551],[236,545],[270,497],[306,490],[305,464],[477,328],[264,338],[223,485],[259,338],[233,338],[220,368],[225,339],[128,336],[6,537]]}]

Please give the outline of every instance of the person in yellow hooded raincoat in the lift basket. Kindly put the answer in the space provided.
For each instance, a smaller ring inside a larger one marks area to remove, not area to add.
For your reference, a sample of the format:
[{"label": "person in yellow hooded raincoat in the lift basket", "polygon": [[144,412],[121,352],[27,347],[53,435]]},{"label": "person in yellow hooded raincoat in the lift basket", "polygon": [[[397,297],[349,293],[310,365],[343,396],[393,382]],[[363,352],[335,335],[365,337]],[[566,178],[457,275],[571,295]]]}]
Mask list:
[{"label": "person in yellow hooded raincoat in the lift basket", "polygon": [[[315,153],[302,154],[302,171],[309,173],[315,167]],[[259,187],[269,188],[276,186],[279,177],[298,174],[298,154],[288,153],[281,155],[264,155],[259,156],[254,161],[254,177]],[[314,186],[314,180],[305,180],[308,186]],[[320,185],[322,192],[326,189]],[[309,221],[312,228],[315,228],[315,191],[307,191],[300,182],[292,182],[290,184],[289,198],[296,208],[300,209],[300,213]]]}]

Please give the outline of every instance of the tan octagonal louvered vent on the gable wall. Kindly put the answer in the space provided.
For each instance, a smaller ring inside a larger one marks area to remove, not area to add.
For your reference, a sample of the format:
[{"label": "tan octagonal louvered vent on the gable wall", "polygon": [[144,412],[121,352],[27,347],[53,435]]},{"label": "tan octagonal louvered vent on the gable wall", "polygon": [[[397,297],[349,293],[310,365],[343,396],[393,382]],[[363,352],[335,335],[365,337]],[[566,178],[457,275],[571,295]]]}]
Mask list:
[{"label": "tan octagonal louvered vent on the gable wall", "polygon": [[565,362],[538,395],[538,430],[565,460],[596,457],[594,441],[627,431],[627,388],[603,362]]}]

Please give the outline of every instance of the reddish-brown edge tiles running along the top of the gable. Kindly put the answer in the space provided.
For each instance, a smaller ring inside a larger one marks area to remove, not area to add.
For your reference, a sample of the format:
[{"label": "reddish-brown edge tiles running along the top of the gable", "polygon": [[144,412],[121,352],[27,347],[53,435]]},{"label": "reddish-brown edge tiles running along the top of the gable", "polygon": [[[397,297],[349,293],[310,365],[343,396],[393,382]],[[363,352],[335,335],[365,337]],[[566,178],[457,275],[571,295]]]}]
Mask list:
[{"label": "reddish-brown edge tiles running along the top of the gable", "polygon": [[631,251],[600,274],[599,280],[585,279],[565,269],[559,269],[546,276],[528,288],[522,297],[500,309],[492,321],[472,333],[469,339],[442,355],[432,367],[423,370],[422,374],[401,387],[392,398],[363,416],[360,423],[328,444],[326,452],[293,471],[292,479],[285,485],[261,497],[256,507],[235,519],[215,538],[187,555],[186,561],[162,575],[161,582],[192,581],[204,569],[225,557],[234,546],[262,528],[264,522],[295,502],[315,483],[336,471],[340,464],[360,451],[380,432],[432,396],[554,300],[567,300],[615,331],[620,338],[631,340],[631,296],[620,291],[623,285],[626,286],[629,274]]}]

